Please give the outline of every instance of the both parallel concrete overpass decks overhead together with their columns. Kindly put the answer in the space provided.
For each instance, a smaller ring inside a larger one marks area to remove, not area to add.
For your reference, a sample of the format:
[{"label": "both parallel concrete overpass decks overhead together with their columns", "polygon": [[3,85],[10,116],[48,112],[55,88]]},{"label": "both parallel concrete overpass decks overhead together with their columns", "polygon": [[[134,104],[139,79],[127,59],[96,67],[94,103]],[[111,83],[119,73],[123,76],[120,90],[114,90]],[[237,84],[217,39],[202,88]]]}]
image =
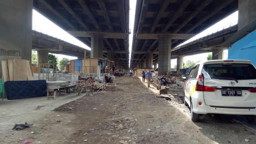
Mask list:
[{"label": "both parallel concrete overpass decks overhead together with their columns", "polygon": [[[151,67],[158,52],[158,70],[168,72],[172,48],[236,10],[239,32],[256,19],[255,3],[137,0],[130,68]],[[128,68],[129,0],[1,0],[0,49],[17,51],[27,60],[31,60],[32,8],[89,46],[90,57],[107,57],[118,67]],[[216,48],[215,53],[220,51]],[[43,62],[48,51],[40,53]]]}]

